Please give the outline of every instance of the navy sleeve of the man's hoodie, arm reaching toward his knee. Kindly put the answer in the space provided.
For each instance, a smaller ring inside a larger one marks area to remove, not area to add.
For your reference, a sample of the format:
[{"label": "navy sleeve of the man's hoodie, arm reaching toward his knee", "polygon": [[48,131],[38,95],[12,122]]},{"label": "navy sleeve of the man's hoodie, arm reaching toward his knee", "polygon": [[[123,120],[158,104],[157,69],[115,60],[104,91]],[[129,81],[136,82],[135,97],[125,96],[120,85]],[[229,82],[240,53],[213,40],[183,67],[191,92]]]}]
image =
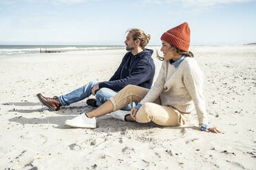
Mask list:
[{"label": "navy sleeve of the man's hoodie, arm reaching toward his knee", "polygon": [[128,84],[138,85],[142,82],[146,82],[149,79],[149,76],[152,73],[152,66],[149,62],[138,62],[134,69],[131,71],[131,74],[123,79],[111,80],[108,82],[100,82],[100,88],[110,88],[112,90],[119,91]]}]

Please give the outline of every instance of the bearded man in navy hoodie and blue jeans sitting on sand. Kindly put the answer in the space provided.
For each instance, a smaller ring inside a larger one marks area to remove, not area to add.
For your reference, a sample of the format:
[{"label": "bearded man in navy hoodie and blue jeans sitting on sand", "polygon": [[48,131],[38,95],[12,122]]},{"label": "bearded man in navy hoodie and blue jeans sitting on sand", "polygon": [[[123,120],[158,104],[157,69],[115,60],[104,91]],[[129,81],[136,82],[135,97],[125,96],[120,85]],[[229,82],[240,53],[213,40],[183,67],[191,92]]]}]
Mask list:
[{"label": "bearded man in navy hoodie and blue jeans sitting on sand", "polygon": [[[57,111],[61,106],[68,106],[90,95],[95,95],[96,99],[87,100],[87,104],[100,106],[128,84],[151,88],[155,74],[155,64],[151,58],[153,50],[145,49],[149,43],[150,35],[145,34],[141,29],[129,29],[127,32],[125,45],[128,52],[122,58],[120,66],[109,81],[89,82],[85,86],[60,97],[43,97],[39,93],[37,94],[39,101],[51,111]],[[123,109],[130,110],[132,107],[133,104],[129,104]]]}]

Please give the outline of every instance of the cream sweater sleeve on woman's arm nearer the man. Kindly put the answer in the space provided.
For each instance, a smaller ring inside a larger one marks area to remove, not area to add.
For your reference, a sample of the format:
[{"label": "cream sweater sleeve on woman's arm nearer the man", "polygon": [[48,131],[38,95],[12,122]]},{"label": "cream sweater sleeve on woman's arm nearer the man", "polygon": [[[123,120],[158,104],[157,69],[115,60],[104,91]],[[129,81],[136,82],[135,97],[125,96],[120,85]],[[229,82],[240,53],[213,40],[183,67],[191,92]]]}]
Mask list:
[{"label": "cream sweater sleeve on woman's arm nearer the man", "polygon": [[165,68],[166,62],[162,62],[161,69],[158,73],[158,77],[156,79],[156,82],[153,84],[152,88],[149,90],[147,95],[140,101],[140,104],[145,104],[146,102],[153,102],[158,99],[162,91],[164,90],[164,73],[166,71]]}]

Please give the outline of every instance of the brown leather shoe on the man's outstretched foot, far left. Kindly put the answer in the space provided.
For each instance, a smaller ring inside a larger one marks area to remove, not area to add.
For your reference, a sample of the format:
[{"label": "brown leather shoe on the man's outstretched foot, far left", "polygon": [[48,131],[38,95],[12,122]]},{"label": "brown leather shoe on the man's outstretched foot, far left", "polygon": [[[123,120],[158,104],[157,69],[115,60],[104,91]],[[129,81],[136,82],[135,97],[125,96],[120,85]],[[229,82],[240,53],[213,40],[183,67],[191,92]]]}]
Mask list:
[{"label": "brown leather shoe on the man's outstretched foot, far left", "polygon": [[50,97],[43,97],[43,95],[41,95],[41,93],[36,95],[39,98],[39,101],[41,101],[41,103],[44,106],[47,106],[47,108],[50,109],[50,111],[58,111],[61,108],[61,103],[60,101],[58,101],[58,97],[54,96],[53,98]]}]

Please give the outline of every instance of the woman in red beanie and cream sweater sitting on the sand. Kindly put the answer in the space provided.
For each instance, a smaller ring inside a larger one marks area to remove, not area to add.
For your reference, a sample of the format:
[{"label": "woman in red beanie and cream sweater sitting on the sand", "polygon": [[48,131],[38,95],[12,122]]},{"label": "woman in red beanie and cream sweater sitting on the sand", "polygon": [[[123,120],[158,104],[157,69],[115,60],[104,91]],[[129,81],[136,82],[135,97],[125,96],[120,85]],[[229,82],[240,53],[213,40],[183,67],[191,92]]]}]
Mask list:
[{"label": "woman in red beanie and cream sweater sitting on the sand", "polygon": [[153,121],[158,125],[176,126],[184,125],[195,108],[200,129],[220,133],[216,127],[209,125],[202,95],[203,73],[193,59],[193,53],[189,51],[188,23],[182,23],[164,32],[161,40],[164,62],[150,90],[128,85],[96,110],[67,120],[65,125],[94,128],[95,117],[119,110],[134,101],[137,105],[131,109],[130,114],[125,111],[114,112],[111,113],[112,117],[123,121]]}]

